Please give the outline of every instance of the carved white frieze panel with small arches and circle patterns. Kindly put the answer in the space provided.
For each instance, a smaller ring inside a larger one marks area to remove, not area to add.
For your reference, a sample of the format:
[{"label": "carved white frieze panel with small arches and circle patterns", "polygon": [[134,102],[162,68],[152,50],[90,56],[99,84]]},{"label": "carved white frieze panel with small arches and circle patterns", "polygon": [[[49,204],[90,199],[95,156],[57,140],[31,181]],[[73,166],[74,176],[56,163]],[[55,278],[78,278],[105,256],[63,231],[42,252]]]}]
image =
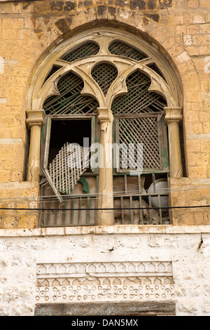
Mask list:
[{"label": "carved white frieze panel with small arches and circle patterns", "polygon": [[40,263],[35,298],[37,303],[172,300],[172,263]]}]

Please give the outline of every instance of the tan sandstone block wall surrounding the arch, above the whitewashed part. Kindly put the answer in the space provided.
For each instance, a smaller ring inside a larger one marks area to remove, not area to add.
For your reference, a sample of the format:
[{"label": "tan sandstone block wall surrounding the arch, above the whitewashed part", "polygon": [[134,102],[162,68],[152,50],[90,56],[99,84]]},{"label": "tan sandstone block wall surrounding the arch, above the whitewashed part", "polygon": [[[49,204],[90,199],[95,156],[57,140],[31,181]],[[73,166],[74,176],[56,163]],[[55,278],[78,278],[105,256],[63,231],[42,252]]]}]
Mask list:
[{"label": "tan sandstone block wall surrounding the arch, above the whitewashed part", "polygon": [[[26,180],[25,113],[31,110],[27,93],[36,68],[57,44],[102,25],[139,34],[172,63],[183,87],[186,176],[209,178],[209,1],[49,0],[0,1],[0,182]],[[201,218],[196,224],[203,223]],[[174,221],[183,223],[183,218]],[[18,227],[28,227],[27,223]],[[195,219],[190,217],[187,223],[194,224]],[[10,227],[2,222],[1,226]]]}]

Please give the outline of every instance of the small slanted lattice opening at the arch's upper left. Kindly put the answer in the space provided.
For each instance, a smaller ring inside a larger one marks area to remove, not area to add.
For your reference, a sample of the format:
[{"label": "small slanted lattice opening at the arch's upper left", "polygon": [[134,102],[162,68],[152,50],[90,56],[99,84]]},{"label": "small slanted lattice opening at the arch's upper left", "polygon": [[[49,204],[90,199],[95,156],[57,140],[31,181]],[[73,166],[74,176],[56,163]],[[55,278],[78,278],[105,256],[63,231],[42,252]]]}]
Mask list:
[{"label": "small slanted lattice opening at the arch's upper left", "polygon": [[67,62],[73,62],[74,60],[79,60],[80,58],[85,58],[87,56],[96,55],[99,52],[99,45],[94,42],[87,42],[82,46],[79,46],[73,51],[70,51],[64,55],[61,60],[66,60]]}]

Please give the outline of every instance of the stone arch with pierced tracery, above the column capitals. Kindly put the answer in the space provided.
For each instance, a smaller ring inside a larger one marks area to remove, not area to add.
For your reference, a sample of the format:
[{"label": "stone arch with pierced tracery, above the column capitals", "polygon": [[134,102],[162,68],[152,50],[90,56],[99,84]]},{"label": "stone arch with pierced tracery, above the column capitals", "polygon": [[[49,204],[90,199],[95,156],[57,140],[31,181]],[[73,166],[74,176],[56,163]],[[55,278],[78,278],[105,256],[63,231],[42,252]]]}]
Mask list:
[{"label": "stone arch with pierced tracery, above the column capitals", "polygon": [[[68,51],[75,49],[80,45],[85,44],[87,41],[94,41],[99,44],[99,53],[97,55],[92,55],[87,60],[85,58],[79,59],[78,62],[67,63],[61,58],[64,57]],[[134,48],[141,50],[142,53],[146,54],[146,58],[140,61],[133,60],[132,58],[125,59],[109,52],[109,44],[114,41],[123,41],[123,43],[128,44]],[[144,39],[131,34],[130,32],[121,31],[120,29],[113,29],[108,27],[93,28],[88,29],[86,32],[81,32],[72,37],[71,40],[66,40],[59,46],[53,49],[52,52],[45,56],[44,60],[37,67],[34,76],[31,79],[31,84],[29,86],[29,97],[27,102],[27,111],[38,110],[42,108],[43,98],[46,98],[50,93],[56,93],[53,81],[62,74],[65,74],[69,70],[74,70],[77,74],[81,74],[85,81],[85,84],[90,84],[90,72],[88,69],[92,65],[95,65],[96,61],[107,61],[109,56],[109,61],[116,64],[120,69],[118,77],[126,77],[130,72],[139,67],[143,72],[151,77],[151,91],[157,91],[162,93],[167,98],[168,107],[181,107],[182,106],[182,93],[179,80],[174,74],[172,66],[165,59],[163,55],[150,43],[146,43]],[[137,63],[138,62],[138,63]],[[155,63],[160,71],[162,72],[165,79],[162,79],[160,84],[160,75],[148,66]],[[48,86],[43,86],[45,78],[48,76],[52,65],[58,65],[61,67],[60,70],[55,72],[55,74],[48,80]],[[88,77],[86,77],[88,75]],[[89,86],[90,88],[90,86]],[[96,93],[88,90],[88,87],[84,87],[83,93]],[[110,98],[110,95],[109,95]]]}]

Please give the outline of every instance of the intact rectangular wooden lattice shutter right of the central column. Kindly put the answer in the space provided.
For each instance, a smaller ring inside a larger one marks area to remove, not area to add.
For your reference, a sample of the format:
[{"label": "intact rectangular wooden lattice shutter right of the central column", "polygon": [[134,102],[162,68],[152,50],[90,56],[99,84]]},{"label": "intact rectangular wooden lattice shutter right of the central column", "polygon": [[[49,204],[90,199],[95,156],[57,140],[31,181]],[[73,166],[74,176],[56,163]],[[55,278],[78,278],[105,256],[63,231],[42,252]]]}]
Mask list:
[{"label": "intact rectangular wooden lattice shutter right of the central column", "polygon": [[[142,144],[143,154],[139,154],[142,159],[142,169],[149,171],[168,171],[168,152],[167,152],[167,132],[164,124],[164,118],[157,114],[148,114],[147,117],[134,115],[133,117],[116,118],[116,141],[119,146],[125,146],[119,149],[118,171],[126,172],[136,170],[138,143]],[[134,146],[134,166],[132,158],[129,157],[129,147]],[[125,148],[127,150],[127,159],[125,159]],[[124,153],[123,153],[124,152]]]}]

